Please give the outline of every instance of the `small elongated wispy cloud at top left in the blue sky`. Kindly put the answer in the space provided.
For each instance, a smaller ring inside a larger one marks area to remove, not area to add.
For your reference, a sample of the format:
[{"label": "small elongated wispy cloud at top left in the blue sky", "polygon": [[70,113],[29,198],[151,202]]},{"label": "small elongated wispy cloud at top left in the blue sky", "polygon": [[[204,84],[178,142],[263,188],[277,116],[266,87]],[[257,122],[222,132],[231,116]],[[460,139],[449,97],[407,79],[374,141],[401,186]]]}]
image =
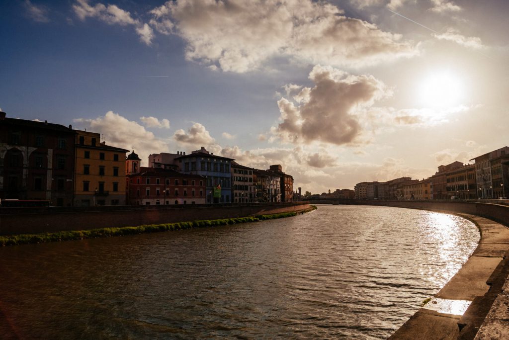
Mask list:
[{"label": "small elongated wispy cloud at top left in the blue sky", "polygon": [[103,4],[96,4],[95,6],[91,6],[88,0],[76,0],[72,8],[81,21],[87,18],[96,18],[109,25],[132,25],[141,41],[147,45],[152,44],[152,39],[154,38],[152,28],[148,24],[134,19],[131,13],[124,11],[116,5],[105,6]]}]

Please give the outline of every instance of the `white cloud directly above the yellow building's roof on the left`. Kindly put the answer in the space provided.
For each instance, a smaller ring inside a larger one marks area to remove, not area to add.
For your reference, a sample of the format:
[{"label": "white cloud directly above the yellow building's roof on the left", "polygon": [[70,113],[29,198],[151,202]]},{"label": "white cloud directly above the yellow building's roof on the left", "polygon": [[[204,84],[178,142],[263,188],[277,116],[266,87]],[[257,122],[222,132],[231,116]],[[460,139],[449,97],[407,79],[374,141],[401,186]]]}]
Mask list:
[{"label": "white cloud directly above the yellow building's roof on the left", "polygon": [[127,150],[135,150],[146,162],[149,154],[168,152],[167,140],[157,138],[152,132],[134,121],[108,111],[104,116],[95,119],[74,119],[80,128],[101,133],[106,138],[106,144]]}]

